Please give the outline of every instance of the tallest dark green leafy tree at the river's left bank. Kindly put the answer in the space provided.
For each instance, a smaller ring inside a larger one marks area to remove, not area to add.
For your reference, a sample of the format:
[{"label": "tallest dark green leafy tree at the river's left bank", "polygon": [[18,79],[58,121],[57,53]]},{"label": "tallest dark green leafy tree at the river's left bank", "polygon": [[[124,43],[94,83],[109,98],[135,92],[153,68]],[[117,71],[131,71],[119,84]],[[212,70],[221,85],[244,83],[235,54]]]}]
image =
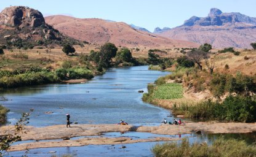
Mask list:
[{"label": "tallest dark green leafy tree at the river's left bank", "polygon": [[112,58],[116,56],[117,51],[118,48],[116,48],[116,46],[110,42],[100,47],[100,63],[103,65],[103,67],[110,67]]}]

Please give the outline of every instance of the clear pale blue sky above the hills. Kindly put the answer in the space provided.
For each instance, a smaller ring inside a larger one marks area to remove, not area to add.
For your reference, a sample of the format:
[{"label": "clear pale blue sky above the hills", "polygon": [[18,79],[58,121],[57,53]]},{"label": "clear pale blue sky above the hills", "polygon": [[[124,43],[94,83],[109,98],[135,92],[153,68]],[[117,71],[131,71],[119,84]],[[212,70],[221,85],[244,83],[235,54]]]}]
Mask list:
[{"label": "clear pale blue sky above the hills", "polygon": [[206,17],[212,7],[256,17],[255,0],[1,0],[0,10],[9,6],[28,6],[44,16],[62,14],[123,21],[150,31],[158,26],[182,25],[193,15]]}]

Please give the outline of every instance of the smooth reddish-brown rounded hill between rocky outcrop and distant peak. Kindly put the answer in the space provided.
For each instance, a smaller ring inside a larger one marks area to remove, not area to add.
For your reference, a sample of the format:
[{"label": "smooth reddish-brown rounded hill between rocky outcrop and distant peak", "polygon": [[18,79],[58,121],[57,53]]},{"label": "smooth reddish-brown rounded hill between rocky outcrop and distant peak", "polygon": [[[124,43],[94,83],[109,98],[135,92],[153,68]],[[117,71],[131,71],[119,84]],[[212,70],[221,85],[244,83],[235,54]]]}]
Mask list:
[{"label": "smooth reddish-brown rounded hill between rocky outcrop and distant peak", "polygon": [[106,21],[98,18],[74,18],[63,15],[45,17],[46,23],[61,33],[81,41],[102,45],[112,42],[122,47],[198,47],[198,44],[167,39],[146,31],[132,28],[123,22]]}]

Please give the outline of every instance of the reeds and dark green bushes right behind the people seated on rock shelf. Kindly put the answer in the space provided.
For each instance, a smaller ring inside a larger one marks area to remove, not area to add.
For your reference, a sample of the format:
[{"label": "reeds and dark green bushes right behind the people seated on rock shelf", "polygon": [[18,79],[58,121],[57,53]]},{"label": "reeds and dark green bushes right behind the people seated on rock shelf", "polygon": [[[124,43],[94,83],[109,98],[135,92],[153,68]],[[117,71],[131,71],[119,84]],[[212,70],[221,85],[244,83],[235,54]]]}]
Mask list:
[{"label": "reeds and dark green bushes right behind the people seated on rock shelf", "polygon": [[182,114],[187,118],[254,122],[256,101],[249,96],[228,96],[222,103],[207,100],[194,105],[174,105],[173,111],[175,115]]}]

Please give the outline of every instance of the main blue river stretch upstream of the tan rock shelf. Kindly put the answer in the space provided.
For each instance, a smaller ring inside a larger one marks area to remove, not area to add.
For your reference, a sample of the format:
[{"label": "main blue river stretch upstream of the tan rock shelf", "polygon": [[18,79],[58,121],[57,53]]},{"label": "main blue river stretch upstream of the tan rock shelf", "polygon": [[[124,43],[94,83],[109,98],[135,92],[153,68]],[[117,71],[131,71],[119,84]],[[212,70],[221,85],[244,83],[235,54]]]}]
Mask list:
[{"label": "main blue river stretch upstream of the tan rock shelf", "polygon": [[[79,124],[113,124],[122,119],[129,124],[161,123],[170,114],[142,101],[148,83],[168,72],[148,71],[148,66],[113,68],[87,83],[52,84],[1,91],[10,109],[8,121],[15,123],[23,112],[31,114],[30,125],[65,124],[66,113]],[[46,113],[53,112],[53,113]]]}]

